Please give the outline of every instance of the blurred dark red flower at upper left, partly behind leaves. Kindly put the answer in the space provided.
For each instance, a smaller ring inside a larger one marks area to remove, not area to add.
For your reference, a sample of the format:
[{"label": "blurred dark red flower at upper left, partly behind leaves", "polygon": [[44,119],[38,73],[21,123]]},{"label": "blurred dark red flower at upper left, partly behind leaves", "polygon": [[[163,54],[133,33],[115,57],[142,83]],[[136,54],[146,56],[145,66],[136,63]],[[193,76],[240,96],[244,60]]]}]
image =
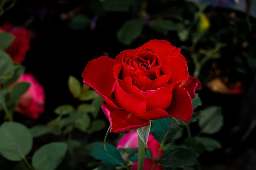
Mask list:
[{"label": "blurred dark red flower at upper left, partly behind leaves", "polygon": [[0,31],[6,31],[15,36],[6,52],[14,62],[22,63],[26,58],[26,52],[30,49],[29,31],[25,28],[13,29],[12,25],[9,24],[0,27]]}]

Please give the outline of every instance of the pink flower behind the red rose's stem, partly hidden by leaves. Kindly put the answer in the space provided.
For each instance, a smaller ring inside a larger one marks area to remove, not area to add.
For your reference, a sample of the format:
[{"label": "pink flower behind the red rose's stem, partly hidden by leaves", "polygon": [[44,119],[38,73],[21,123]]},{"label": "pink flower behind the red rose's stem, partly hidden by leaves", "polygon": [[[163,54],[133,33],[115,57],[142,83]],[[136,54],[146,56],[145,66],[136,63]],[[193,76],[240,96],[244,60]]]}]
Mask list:
[{"label": "pink flower behind the red rose's stem, partly hidden by leaves", "polygon": [[[152,151],[153,159],[156,159],[158,150],[160,149],[160,143],[154,139],[152,134],[149,134],[147,147]],[[138,148],[138,134],[137,131],[131,131],[125,134],[122,139],[119,140],[117,144],[117,149],[119,148]],[[163,150],[160,151],[158,157],[163,154]],[[150,159],[144,160],[144,170],[150,170],[154,161]],[[132,170],[137,170],[138,162],[132,164]],[[160,164],[156,164],[154,170],[162,170],[163,167]]]}]

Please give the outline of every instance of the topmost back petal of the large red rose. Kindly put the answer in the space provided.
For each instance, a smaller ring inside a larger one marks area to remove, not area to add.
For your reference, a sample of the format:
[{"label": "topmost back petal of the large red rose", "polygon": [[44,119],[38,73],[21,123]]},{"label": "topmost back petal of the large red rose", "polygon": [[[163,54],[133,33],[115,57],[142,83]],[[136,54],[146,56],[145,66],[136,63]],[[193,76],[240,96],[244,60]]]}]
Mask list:
[{"label": "topmost back petal of the large red rose", "polygon": [[185,59],[185,57],[183,55],[180,55],[180,53],[179,53],[181,49],[174,47],[173,45],[171,45],[170,42],[168,42],[166,40],[155,39],[155,40],[148,41],[142,47],[140,47],[140,49],[143,49],[143,48],[155,50],[161,60],[164,57],[166,57],[167,55],[176,56],[176,57],[179,57],[182,60],[184,60],[184,62],[187,65],[187,60]]}]

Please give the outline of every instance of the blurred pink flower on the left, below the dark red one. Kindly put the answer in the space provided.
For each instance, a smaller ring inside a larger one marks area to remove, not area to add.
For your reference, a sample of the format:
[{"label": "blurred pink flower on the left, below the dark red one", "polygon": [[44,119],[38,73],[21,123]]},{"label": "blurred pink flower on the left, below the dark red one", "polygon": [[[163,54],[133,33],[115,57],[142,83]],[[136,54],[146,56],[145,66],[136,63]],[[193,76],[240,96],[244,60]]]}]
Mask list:
[{"label": "blurred pink flower on the left, below the dark red one", "polygon": [[20,97],[17,110],[26,117],[37,119],[44,112],[45,93],[43,86],[31,74],[23,74],[16,83],[24,81],[30,83],[30,87]]}]

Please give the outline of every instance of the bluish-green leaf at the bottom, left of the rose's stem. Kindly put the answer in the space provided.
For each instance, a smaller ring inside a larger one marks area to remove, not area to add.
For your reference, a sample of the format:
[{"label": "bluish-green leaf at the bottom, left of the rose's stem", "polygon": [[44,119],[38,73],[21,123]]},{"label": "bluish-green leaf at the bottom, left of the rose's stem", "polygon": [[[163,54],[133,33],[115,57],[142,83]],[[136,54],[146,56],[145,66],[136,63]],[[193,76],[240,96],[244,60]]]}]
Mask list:
[{"label": "bluish-green leaf at the bottom, left of the rose's stem", "polygon": [[89,154],[95,159],[101,160],[102,162],[114,163],[116,165],[124,165],[124,160],[115,147],[107,143],[106,148],[108,151],[104,149],[103,142],[91,143],[86,147]]}]

